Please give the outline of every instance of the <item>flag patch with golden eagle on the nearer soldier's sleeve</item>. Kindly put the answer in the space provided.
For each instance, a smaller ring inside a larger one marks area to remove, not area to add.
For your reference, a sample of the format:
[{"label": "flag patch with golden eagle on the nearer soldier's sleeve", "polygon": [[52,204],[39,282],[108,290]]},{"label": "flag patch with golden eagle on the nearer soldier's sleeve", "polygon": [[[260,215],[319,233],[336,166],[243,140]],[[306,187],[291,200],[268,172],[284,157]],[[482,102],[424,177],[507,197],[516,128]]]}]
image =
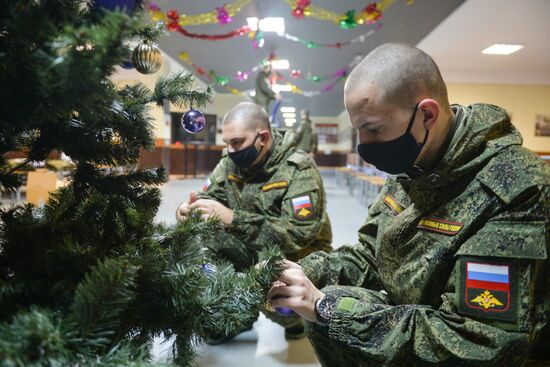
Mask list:
[{"label": "flag patch with golden eagle on the nearer soldier's sleeve", "polygon": [[462,268],[461,313],[497,320],[516,320],[516,284],[511,264],[465,261]]}]

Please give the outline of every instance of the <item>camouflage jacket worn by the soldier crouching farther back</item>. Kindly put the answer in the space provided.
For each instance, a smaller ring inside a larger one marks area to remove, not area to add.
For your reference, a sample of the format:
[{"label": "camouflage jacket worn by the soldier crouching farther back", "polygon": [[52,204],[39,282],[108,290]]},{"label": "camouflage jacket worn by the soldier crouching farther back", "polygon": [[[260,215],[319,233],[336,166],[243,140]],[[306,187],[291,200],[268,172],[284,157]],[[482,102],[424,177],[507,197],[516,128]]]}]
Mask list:
[{"label": "camouflage jacket worn by the soldier crouching farther back", "polygon": [[233,209],[228,231],[253,248],[274,243],[291,260],[329,250],[332,230],[319,170],[294,148],[292,131],[274,130],[273,138],[261,167],[240,169],[224,152],[199,197]]}]

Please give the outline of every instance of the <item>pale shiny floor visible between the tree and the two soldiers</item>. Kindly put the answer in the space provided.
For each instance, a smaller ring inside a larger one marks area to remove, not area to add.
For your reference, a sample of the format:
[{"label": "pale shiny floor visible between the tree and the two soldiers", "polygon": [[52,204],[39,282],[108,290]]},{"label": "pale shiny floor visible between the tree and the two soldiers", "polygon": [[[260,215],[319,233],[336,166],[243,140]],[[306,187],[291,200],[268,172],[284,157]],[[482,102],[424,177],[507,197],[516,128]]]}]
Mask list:
[{"label": "pale shiny floor visible between the tree and the two soldiers", "polygon": [[[328,214],[332,222],[333,247],[357,241],[357,230],[367,216],[367,209],[353,199],[346,190],[336,186],[331,171],[323,172],[327,193]],[[204,179],[171,180],[162,188],[163,201],[157,219],[175,223],[177,205],[186,200],[191,190],[202,187]],[[159,340],[160,342],[160,340]],[[170,342],[157,343],[156,359],[166,358]],[[197,363],[202,367],[245,366],[319,366],[307,339],[286,342],[284,329],[260,315],[254,328],[235,339],[218,345],[202,346]]]}]

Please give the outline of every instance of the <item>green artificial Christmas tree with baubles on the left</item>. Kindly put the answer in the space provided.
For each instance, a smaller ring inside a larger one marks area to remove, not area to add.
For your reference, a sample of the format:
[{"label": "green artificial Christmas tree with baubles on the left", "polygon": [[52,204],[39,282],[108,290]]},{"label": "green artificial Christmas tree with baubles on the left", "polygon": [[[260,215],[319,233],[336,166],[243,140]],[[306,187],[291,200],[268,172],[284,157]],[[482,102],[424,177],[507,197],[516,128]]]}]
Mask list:
[{"label": "green artificial Christmas tree with baubles on the left", "polygon": [[[110,81],[128,40],[158,36],[139,4],[132,13],[70,0],[0,6],[0,185],[13,190],[20,166],[54,150],[74,162],[44,206],[0,209],[1,364],[146,365],[158,335],[176,336],[173,363],[189,364],[204,335],[250,322],[281,270],[276,250],[261,271],[211,265],[200,243],[220,227],[198,213],[154,223],[164,171],[135,168],[154,142],[147,106],[201,106],[210,91],[184,74],[153,91]],[[9,165],[10,151],[26,161]]]}]

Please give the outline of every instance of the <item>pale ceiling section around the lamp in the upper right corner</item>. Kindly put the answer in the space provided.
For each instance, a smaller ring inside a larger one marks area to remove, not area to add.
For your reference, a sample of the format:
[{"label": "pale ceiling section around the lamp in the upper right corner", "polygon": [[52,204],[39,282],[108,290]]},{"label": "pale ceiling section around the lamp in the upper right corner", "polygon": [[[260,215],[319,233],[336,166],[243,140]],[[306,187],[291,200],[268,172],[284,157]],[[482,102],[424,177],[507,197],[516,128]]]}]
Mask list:
[{"label": "pale ceiling section around the lamp in the upper right corner", "polygon": [[[525,47],[484,55],[493,43]],[[455,83],[550,85],[550,0],[467,0],[418,47]]]}]

